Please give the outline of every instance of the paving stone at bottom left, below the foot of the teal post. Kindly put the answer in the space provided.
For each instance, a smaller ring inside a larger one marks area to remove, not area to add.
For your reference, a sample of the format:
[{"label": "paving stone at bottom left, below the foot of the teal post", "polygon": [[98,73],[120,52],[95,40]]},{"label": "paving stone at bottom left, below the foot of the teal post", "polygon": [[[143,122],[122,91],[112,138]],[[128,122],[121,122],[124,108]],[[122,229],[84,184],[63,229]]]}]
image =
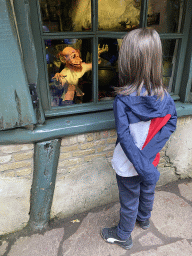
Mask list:
[{"label": "paving stone at bottom left, below the foot of the teal post", "polygon": [[64,229],[53,229],[44,235],[21,237],[11,247],[8,256],[57,256]]}]

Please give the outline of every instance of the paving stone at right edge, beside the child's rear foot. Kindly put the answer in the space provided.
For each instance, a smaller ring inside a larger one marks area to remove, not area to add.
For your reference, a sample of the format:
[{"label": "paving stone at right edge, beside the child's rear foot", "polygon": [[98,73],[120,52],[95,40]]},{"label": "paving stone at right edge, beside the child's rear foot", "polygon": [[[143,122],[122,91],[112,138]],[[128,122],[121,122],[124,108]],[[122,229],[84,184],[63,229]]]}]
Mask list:
[{"label": "paving stone at right edge, beside the child's rear foot", "polygon": [[156,192],[151,220],[166,236],[192,238],[192,207],[173,193]]}]

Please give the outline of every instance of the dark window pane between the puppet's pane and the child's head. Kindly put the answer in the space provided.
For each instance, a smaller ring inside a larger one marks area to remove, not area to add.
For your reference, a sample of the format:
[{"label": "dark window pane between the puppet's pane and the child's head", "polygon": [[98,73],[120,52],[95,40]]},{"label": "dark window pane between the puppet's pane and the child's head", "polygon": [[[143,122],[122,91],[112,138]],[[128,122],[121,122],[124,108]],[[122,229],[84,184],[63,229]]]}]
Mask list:
[{"label": "dark window pane between the puppet's pane and the child's head", "polygon": [[114,97],[114,86],[118,85],[118,52],[122,39],[99,39],[98,84],[99,101]]}]

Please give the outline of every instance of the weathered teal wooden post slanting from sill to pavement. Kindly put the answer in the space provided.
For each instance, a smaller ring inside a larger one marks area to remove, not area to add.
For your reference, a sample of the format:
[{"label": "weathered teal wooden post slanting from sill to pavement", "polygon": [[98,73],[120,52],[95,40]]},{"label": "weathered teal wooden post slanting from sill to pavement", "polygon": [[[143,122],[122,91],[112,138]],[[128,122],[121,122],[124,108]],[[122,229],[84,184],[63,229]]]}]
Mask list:
[{"label": "weathered teal wooden post slanting from sill to pavement", "polygon": [[60,145],[60,139],[35,143],[29,218],[32,230],[46,228],[50,220]]}]

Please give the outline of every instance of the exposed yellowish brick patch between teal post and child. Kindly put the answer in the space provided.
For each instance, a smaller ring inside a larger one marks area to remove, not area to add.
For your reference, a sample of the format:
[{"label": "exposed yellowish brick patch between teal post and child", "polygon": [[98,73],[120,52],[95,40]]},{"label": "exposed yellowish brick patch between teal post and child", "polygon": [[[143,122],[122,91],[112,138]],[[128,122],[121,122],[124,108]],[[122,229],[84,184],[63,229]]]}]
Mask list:
[{"label": "exposed yellowish brick patch between teal post and child", "polygon": [[110,161],[116,142],[115,130],[87,133],[63,138],[61,141],[57,179],[76,170],[79,165],[105,157]]}]

